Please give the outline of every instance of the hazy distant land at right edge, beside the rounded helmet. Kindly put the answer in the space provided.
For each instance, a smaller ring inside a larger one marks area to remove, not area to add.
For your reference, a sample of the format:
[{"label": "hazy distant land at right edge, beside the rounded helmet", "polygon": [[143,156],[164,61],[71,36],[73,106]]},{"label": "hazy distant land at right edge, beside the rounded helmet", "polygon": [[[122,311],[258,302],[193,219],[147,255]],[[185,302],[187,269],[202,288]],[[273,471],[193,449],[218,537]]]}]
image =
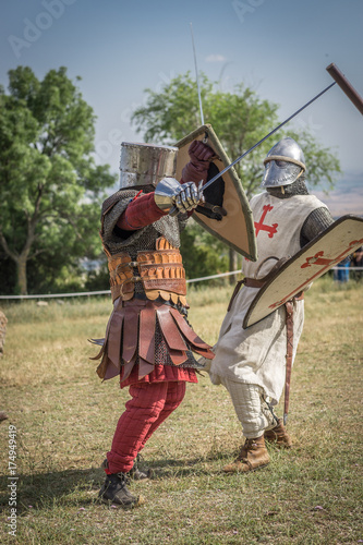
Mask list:
[{"label": "hazy distant land at right edge, beside the rounded helmet", "polygon": [[329,207],[336,219],[346,214],[363,216],[363,173],[346,174],[328,195],[320,187],[311,187],[310,192]]}]

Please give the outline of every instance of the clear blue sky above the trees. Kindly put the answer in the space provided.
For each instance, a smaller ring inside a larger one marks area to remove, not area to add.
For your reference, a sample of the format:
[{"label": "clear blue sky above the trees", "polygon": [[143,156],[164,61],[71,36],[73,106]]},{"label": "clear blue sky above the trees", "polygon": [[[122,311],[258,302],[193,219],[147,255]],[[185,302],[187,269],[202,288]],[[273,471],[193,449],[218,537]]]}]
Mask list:
[{"label": "clear blue sky above the trees", "polygon": [[[280,121],[332,82],[325,70],[331,62],[363,95],[362,0],[2,2],[0,83],[7,86],[8,71],[19,64],[39,78],[61,65],[70,77],[80,75],[98,117],[98,158],[117,171],[120,143],[141,138],[130,116],[143,90],[187,70],[194,75],[191,22],[198,70],[225,90],[252,86],[280,105]],[[308,128],[332,148],[342,175],[329,202],[339,206],[343,196],[344,213],[351,203],[363,215],[363,119],[342,90],[332,87],[291,126]]]}]

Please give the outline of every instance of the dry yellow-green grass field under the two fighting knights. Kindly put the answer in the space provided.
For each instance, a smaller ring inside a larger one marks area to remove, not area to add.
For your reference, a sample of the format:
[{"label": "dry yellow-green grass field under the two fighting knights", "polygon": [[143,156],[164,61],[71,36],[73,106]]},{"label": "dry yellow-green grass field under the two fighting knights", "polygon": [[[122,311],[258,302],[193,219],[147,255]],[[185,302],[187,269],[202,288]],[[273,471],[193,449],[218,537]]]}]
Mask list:
[{"label": "dry yellow-green grass field under the two fighting knights", "polygon": [[[230,288],[190,293],[190,322],[217,339]],[[363,284],[325,277],[305,299],[305,328],[292,374],[291,451],[225,475],[242,444],[222,387],[189,385],[181,407],[143,451],[156,472],[133,482],[145,502],[131,511],[97,502],[99,468],[129,395],[101,383],[89,337],[101,337],[105,299],[2,306],[9,323],[0,360],[3,544],[356,544],[362,528]],[[281,410],[279,411],[281,414]],[[9,431],[16,429],[16,535],[10,535]]]}]

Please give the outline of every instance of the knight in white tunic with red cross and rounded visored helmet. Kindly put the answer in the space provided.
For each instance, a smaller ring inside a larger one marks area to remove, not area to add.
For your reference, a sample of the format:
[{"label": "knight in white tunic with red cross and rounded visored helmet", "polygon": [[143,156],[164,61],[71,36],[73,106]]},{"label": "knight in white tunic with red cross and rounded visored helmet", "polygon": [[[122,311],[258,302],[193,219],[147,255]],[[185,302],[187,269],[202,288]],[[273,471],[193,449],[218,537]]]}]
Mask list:
[{"label": "knight in white tunic with red cross and rounded visored helmet", "polygon": [[328,208],[308,194],[304,154],[293,138],[278,142],[264,164],[265,191],[250,202],[258,258],[243,261],[244,279],[234,290],[209,370],[211,382],[229,391],[245,437],[239,457],[223,468],[227,473],[267,465],[265,440],[282,448],[292,445],[273,407],[282,393],[287,365],[292,365],[297,353],[304,320],[303,293],[247,329],[243,319],[281,259],[294,255],[334,222]]}]

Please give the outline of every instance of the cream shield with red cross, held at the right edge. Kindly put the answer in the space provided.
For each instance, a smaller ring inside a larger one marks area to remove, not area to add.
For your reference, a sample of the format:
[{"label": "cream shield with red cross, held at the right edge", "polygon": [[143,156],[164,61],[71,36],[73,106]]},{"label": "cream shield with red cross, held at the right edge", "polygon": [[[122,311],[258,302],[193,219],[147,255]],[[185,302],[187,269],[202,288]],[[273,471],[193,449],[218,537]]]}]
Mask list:
[{"label": "cream shield with red cross, held at the right edge", "polygon": [[290,301],[307,286],[338,265],[363,244],[363,218],[343,216],[281,267],[261,288],[243,320],[243,328],[256,324]]}]

